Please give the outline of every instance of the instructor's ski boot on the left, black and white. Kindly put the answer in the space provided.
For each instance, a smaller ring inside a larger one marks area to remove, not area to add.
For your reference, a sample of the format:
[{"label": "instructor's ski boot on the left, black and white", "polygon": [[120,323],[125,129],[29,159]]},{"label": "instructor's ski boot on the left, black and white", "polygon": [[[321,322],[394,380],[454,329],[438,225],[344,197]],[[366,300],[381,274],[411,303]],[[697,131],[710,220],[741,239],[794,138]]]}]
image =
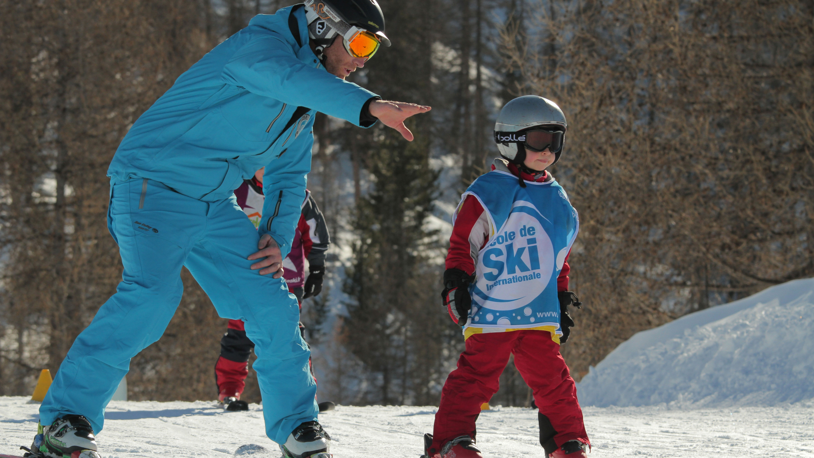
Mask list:
[{"label": "instructor's ski boot on the left, black and white", "polygon": [[37,435],[26,456],[102,458],[96,451],[94,429],[81,415],[60,416],[50,426],[37,424]]}]

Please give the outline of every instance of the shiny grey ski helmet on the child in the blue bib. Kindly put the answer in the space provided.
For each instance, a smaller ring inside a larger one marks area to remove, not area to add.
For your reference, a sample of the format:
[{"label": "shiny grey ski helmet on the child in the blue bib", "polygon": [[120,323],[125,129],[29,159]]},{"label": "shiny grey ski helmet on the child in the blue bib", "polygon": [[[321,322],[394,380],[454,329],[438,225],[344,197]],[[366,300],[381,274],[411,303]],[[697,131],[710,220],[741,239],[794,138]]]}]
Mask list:
[{"label": "shiny grey ski helmet on the child in the blue bib", "polygon": [[552,151],[554,152],[552,165],[556,164],[562,154],[562,144],[565,143],[568,125],[557,103],[539,95],[523,95],[512,99],[497,115],[495,143],[501,156],[515,165],[523,165],[523,161],[526,160],[526,150],[521,148],[526,139],[523,131],[538,126],[543,130],[562,132],[559,148]]}]

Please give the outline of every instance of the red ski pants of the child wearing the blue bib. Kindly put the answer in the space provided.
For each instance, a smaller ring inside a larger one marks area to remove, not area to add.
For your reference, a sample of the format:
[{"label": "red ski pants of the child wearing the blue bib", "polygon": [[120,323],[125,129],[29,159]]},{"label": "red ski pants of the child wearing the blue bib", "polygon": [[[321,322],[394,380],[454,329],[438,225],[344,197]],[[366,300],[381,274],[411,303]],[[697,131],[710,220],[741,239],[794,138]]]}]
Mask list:
[{"label": "red ski pants of the child wearing the blue bib", "polygon": [[572,439],[589,443],[574,379],[559,353],[559,344],[551,340],[548,331],[510,331],[473,334],[466,339],[457,369],[450,372],[441,391],[433,429],[435,450],[464,434],[475,437],[480,406],[497,393],[510,354],[532,388],[540,413],[551,421],[557,446]]}]

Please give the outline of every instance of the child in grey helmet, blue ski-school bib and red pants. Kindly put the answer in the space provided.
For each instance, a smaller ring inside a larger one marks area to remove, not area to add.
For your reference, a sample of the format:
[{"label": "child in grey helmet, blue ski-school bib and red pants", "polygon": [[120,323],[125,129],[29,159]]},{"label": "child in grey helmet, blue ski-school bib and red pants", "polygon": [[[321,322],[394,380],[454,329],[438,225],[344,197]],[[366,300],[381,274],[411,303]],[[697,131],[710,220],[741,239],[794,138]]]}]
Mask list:
[{"label": "child in grey helmet, blue ski-school bib and red pants", "polygon": [[497,117],[504,159],[464,192],[444,272],[444,306],[463,327],[466,350],[449,374],[424,437],[427,458],[482,457],[475,447],[480,406],[497,392],[509,355],[540,409],[540,444],[554,458],[589,447],[574,380],[559,353],[574,322],[566,260],[579,219],[545,169],[562,153],[567,124],[556,103],[525,95]]}]

